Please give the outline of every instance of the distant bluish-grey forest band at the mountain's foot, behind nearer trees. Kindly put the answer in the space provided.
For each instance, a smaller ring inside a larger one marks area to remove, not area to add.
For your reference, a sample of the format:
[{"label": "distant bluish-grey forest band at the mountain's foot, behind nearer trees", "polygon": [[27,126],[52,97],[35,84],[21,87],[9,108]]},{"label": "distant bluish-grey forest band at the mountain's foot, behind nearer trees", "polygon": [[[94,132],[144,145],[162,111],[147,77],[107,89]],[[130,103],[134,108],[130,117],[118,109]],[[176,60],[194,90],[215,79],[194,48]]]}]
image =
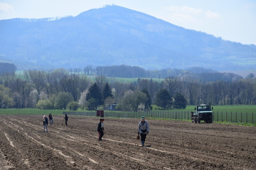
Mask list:
[{"label": "distant bluish-grey forest band at the mountain's foot, behind nearer trees", "polygon": [[178,68],[166,68],[161,70],[145,70],[138,66],[129,65],[112,65],[112,66],[97,66],[87,65],[84,68],[69,68],[70,73],[79,75],[105,75],[107,77],[122,77],[122,78],[157,78],[165,79],[168,76],[173,77],[193,77],[198,79],[200,82],[209,81],[230,81],[233,79],[242,79],[234,73],[220,73],[212,69],[205,69],[201,67],[191,67],[185,69]]}]

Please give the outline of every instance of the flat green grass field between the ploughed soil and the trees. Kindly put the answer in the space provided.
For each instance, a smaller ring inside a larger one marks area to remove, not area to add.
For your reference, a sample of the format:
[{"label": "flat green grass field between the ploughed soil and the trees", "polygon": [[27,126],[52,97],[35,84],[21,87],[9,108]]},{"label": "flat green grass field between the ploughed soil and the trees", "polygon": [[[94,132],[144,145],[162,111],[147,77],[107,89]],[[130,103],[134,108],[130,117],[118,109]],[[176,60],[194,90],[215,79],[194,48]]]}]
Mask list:
[{"label": "flat green grass field between the ploughed soil and the trees", "polygon": [[[140,111],[140,112],[104,111],[104,117],[140,118],[142,116],[145,116],[148,118],[156,118],[156,119],[190,120],[190,113],[191,111],[194,111],[194,107],[195,106],[187,106],[186,109],[153,110],[153,111]],[[223,106],[212,106],[212,107],[213,107],[214,122],[256,125],[256,113],[255,113],[256,105],[223,105]],[[53,115],[56,115],[56,114],[62,114],[63,111],[65,110],[0,109],[0,114],[48,115],[49,113],[51,113]],[[66,111],[69,111],[69,110],[66,110]],[[80,114],[80,115],[87,115],[87,116],[96,115],[95,111],[79,110],[75,112],[88,113],[88,114]],[[70,113],[70,114],[74,114],[74,113]]]}]

